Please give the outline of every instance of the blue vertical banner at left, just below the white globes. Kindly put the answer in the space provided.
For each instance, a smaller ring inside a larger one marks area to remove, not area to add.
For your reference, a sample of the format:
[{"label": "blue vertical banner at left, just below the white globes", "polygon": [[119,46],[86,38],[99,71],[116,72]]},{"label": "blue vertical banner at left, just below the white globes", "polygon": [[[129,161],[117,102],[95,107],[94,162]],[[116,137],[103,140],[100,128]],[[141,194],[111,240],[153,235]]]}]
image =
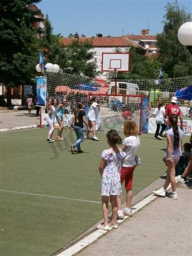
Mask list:
[{"label": "blue vertical banner at left, just below the white globes", "polygon": [[37,103],[36,106],[46,106],[46,77],[36,77]]}]

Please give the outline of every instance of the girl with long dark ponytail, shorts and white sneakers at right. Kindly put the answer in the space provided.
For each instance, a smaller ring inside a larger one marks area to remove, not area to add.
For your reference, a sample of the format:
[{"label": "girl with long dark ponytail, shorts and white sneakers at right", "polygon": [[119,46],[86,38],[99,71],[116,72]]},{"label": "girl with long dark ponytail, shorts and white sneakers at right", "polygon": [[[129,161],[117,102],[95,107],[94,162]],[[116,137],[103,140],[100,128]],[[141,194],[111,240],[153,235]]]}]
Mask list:
[{"label": "girl with long dark ponytail, shorts and white sneakers at right", "polygon": [[180,156],[182,155],[182,137],[183,133],[178,127],[178,116],[171,115],[169,118],[171,129],[165,132],[167,139],[166,147],[166,163],[167,163],[167,175],[166,181],[163,188],[153,191],[153,194],[156,196],[165,197],[165,191],[170,185],[172,187],[172,193],[169,194],[169,197],[172,199],[178,199],[175,183],[175,166],[177,165]]}]

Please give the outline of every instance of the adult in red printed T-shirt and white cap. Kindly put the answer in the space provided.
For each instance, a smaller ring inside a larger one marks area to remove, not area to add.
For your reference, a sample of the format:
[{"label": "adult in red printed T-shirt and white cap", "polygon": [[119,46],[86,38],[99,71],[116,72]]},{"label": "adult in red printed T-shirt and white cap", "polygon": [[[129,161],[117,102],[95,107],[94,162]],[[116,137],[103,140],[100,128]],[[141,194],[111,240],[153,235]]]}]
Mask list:
[{"label": "adult in red printed T-shirt and white cap", "polygon": [[183,129],[183,118],[182,118],[182,114],[181,114],[181,109],[180,107],[178,107],[176,105],[176,102],[177,102],[177,98],[176,97],[172,97],[171,98],[171,103],[168,104],[165,108],[165,119],[168,117],[168,121],[167,121],[167,125],[170,126],[170,123],[169,123],[169,118],[171,115],[175,114],[177,116],[179,116],[180,118],[180,129],[182,130]]}]

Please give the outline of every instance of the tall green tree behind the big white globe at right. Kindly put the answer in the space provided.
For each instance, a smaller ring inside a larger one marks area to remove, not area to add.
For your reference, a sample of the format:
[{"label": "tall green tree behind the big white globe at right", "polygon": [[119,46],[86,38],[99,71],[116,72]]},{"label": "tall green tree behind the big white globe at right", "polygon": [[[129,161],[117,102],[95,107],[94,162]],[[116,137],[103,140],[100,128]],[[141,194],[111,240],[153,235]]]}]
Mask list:
[{"label": "tall green tree behind the big white globe at right", "polygon": [[178,2],[167,3],[165,6],[164,28],[157,35],[158,60],[169,77],[182,77],[192,74],[192,55],[178,40],[179,27],[191,21],[191,14],[180,7]]}]

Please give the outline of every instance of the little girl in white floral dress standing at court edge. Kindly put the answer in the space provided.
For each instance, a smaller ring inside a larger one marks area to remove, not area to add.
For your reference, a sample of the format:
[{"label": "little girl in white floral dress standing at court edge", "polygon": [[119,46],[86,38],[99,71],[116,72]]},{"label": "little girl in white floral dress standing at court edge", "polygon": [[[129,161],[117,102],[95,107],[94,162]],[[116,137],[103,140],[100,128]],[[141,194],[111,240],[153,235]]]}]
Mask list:
[{"label": "little girl in white floral dress standing at court edge", "polygon": [[[98,229],[109,230],[118,228],[117,226],[117,196],[121,194],[121,161],[124,153],[116,145],[122,143],[121,137],[115,130],[107,133],[107,143],[109,149],[101,154],[99,172],[101,174],[101,196],[102,196],[102,213],[104,223],[97,226]],[[109,197],[112,206],[112,220],[108,223]]]}]

